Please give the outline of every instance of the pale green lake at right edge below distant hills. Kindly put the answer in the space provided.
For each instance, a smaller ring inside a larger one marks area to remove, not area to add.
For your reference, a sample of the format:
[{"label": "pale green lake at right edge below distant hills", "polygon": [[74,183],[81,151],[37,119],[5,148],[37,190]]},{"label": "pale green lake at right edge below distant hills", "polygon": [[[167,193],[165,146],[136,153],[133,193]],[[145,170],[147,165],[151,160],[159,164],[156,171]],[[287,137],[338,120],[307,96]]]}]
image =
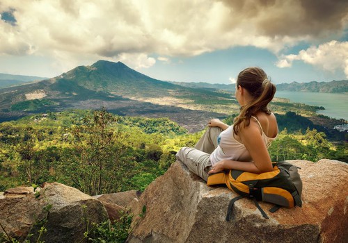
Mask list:
[{"label": "pale green lake at right edge below distant hills", "polygon": [[292,103],[324,106],[325,110],[318,110],[317,113],[348,120],[348,94],[277,91],[275,97],[290,99]]}]

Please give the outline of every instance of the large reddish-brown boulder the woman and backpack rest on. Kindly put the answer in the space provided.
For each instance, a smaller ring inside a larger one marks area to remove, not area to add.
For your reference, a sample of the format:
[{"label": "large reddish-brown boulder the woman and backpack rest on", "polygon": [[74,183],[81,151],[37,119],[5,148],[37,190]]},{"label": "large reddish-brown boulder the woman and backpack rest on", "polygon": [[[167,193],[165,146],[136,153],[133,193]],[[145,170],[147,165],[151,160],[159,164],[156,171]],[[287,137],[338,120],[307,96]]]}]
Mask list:
[{"label": "large reddish-brown boulder the woman and backpack rest on", "polygon": [[[302,208],[253,201],[235,203],[226,221],[227,187],[208,187],[181,162],[151,183],[132,207],[128,242],[345,242],[348,239],[348,165],[336,160],[291,160],[301,167]],[[141,215],[145,206],[145,215]]]}]

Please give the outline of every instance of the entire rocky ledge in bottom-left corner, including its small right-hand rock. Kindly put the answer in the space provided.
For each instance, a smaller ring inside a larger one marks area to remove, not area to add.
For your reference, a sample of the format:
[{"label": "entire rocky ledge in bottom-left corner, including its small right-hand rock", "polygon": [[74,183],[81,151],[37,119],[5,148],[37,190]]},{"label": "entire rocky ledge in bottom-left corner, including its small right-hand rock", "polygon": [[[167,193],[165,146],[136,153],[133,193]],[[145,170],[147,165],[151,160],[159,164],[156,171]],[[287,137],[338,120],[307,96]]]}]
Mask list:
[{"label": "entire rocky ledge in bottom-left corner, including its small right-hand rock", "polygon": [[[84,233],[93,223],[118,219],[138,198],[135,190],[93,197],[61,183],[44,183],[35,192],[33,187],[12,188],[0,193],[0,234],[19,242],[30,233],[31,242],[86,242]],[[46,232],[39,237],[41,226]]]}]

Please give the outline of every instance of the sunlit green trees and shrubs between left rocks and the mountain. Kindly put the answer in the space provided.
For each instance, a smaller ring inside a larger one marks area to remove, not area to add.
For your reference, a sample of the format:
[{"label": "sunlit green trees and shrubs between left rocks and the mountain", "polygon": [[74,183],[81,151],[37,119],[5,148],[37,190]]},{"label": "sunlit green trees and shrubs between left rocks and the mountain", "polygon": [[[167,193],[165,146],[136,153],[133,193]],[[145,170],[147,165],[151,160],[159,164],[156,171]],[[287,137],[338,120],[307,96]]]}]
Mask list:
[{"label": "sunlit green trees and shrubs between left rocks and the mountain", "polygon": [[106,110],[47,112],[3,122],[1,190],[45,181],[88,194],[143,190],[175,161],[162,143],[184,133],[169,119],[118,117]]}]

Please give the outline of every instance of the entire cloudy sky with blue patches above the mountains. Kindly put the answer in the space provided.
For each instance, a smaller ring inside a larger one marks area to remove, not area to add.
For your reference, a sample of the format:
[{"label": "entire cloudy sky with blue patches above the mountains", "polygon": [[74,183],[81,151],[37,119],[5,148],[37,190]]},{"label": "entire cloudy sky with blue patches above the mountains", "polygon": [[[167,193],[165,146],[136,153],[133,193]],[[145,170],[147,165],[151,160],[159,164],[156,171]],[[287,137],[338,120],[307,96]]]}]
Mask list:
[{"label": "entire cloudy sky with blue patches above the mountains", "polygon": [[0,73],[58,76],[97,60],[165,81],[348,79],[346,0],[0,0]]}]

